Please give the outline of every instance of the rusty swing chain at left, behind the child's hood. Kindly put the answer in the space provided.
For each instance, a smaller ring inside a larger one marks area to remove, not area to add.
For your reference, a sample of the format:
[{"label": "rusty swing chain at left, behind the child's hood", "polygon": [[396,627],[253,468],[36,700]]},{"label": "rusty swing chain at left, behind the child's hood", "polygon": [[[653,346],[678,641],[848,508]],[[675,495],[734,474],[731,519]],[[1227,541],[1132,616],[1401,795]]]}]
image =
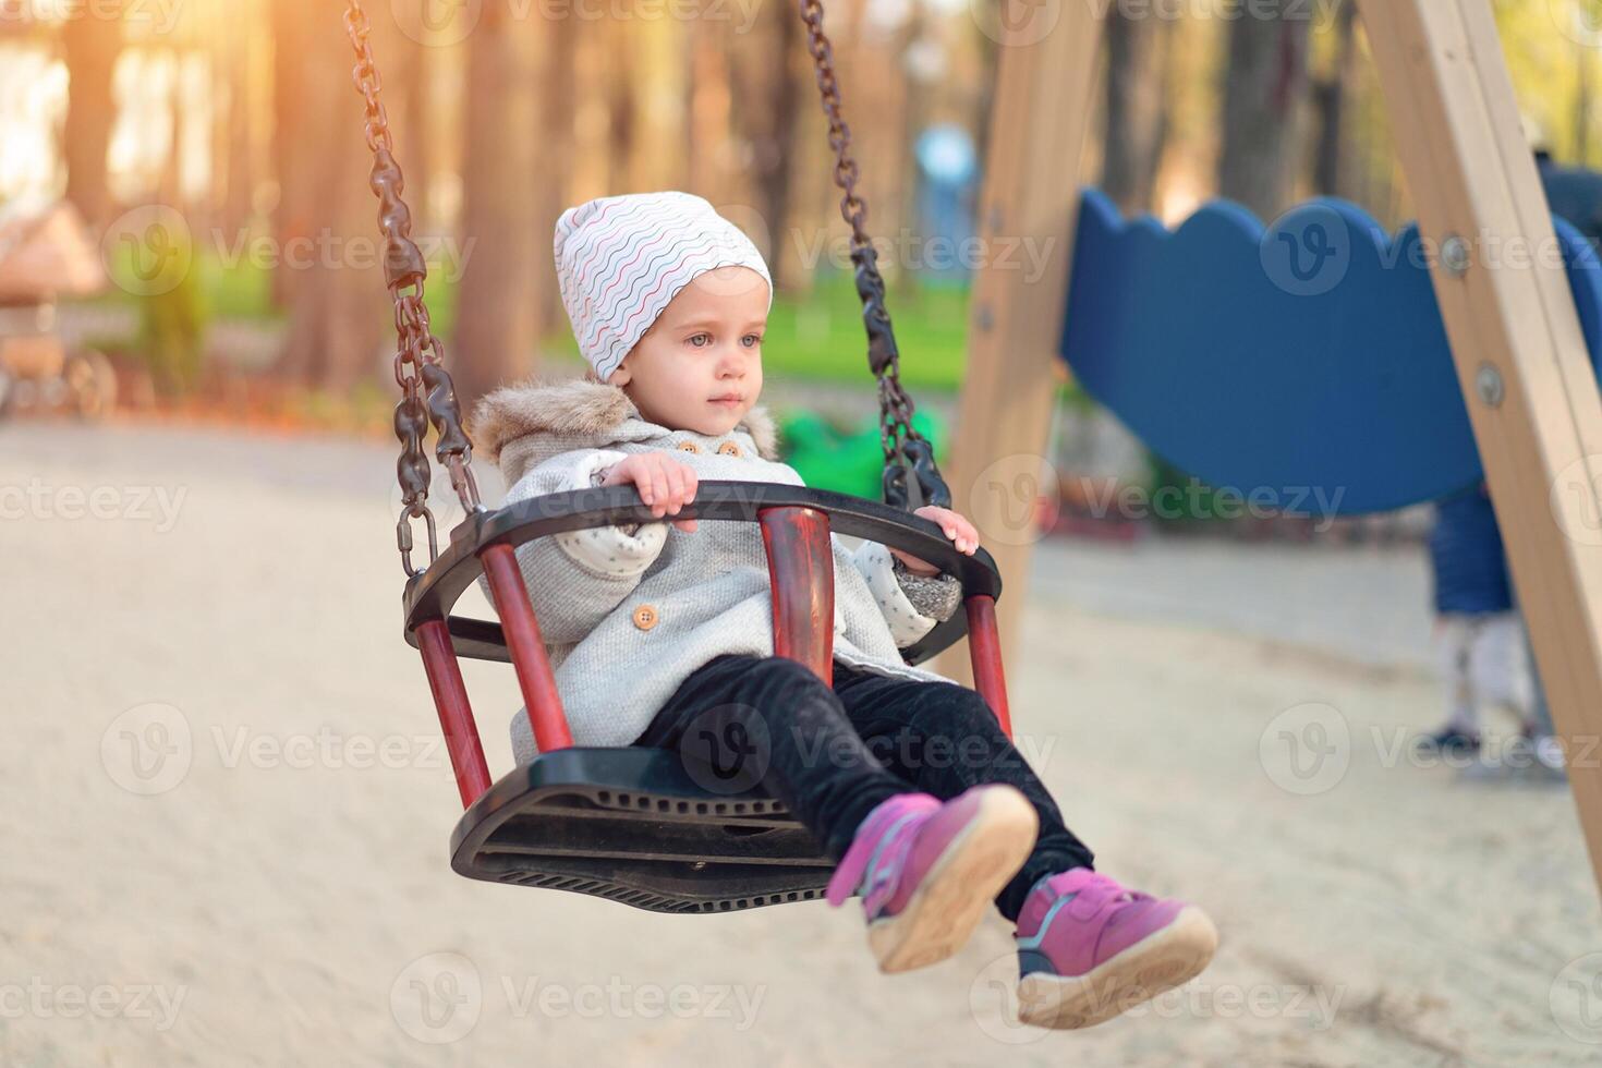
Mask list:
[{"label": "rusty swing chain at left, behind the child's hood", "polygon": [[[396,479],[400,484],[402,512],[396,524],[396,546],[400,549],[400,567],[407,576],[418,573],[412,567],[412,524],[425,522],[428,530],[428,559],[439,557],[439,538],[434,512],[428,506],[428,490],[433,468],[423,450],[428,424],[433,421],[437,445],[436,458],[450,472],[450,485],[468,512],[482,509],[477,480],[473,477],[473,442],[461,428],[461,408],[450,373],[444,367],[445,346],[434,336],[428,319],[428,303],[423,282],[428,264],[417,242],[412,240],[412,211],[400,194],[405,192],[405,176],[394,159],[394,141],[389,135],[389,117],[378,91],[383,78],[373,61],[368,43],[372,24],[360,0],[348,0],[344,30],[356,51],[356,67],[351,72],[357,91],[365,101],[367,147],[373,154],[368,186],[378,197],[378,227],[384,235],[384,280],[396,306],[396,357],[394,375],[400,386],[400,404],[396,405],[394,429],[400,440],[400,460],[396,463]],[[425,400],[425,389],[426,400]]]}]

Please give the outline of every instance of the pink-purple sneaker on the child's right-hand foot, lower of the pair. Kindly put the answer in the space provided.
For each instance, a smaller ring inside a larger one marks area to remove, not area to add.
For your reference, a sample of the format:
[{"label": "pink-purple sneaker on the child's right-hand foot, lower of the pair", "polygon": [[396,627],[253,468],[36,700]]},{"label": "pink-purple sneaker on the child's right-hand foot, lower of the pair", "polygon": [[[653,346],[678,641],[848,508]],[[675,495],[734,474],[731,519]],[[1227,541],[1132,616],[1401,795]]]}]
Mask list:
[{"label": "pink-purple sneaker on the child's right-hand foot, lower of the pair", "polygon": [[1017,917],[1019,1020],[1088,1028],[1189,982],[1218,948],[1195,905],[1126,890],[1089,868],[1041,879]]}]

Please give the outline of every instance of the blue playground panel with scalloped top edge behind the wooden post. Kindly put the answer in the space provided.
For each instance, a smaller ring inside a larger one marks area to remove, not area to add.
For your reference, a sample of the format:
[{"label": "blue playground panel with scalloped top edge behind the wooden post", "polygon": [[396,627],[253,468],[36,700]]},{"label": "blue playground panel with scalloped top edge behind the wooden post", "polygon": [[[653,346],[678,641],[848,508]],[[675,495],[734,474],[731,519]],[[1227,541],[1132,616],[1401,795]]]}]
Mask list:
[{"label": "blue playground panel with scalloped top edge behind the wooden post", "polygon": [[[1592,367],[1602,263],[1554,218]],[[1482,477],[1416,226],[1320,199],[1264,229],[1214,200],[1169,232],[1080,207],[1061,354],[1165,460],[1267,508],[1360,514]],[[1479,253],[1475,253],[1479,255]]]}]

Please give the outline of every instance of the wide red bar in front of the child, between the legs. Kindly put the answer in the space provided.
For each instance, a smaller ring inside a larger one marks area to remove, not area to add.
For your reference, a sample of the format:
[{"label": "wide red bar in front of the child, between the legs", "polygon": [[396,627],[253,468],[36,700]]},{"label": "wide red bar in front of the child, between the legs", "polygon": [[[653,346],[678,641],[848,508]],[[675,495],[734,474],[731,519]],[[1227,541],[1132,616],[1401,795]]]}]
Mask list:
[{"label": "wide red bar in front of the child, between the legs", "polygon": [[774,592],[774,655],[835,685],[835,543],[828,512],[782,504],[756,512]]}]

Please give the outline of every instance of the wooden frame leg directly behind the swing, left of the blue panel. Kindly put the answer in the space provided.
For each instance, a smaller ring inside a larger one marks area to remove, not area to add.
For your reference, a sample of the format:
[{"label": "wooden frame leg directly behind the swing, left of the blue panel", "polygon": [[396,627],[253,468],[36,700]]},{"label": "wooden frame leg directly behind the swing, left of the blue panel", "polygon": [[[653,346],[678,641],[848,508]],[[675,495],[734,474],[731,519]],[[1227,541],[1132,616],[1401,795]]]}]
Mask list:
[{"label": "wooden frame leg directly behind the swing, left of the blue panel", "polygon": [[[972,520],[1001,572],[996,624],[1004,656],[1028,592],[1035,495],[1056,493],[1041,479],[1056,477],[1049,450],[1062,383],[1057,343],[1107,5],[987,3],[996,18],[982,29],[998,38],[998,69],[979,199],[984,266],[974,277],[968,368],[945,469],[952,506]],[[934,668],[972,685],[963,642]]]}]

